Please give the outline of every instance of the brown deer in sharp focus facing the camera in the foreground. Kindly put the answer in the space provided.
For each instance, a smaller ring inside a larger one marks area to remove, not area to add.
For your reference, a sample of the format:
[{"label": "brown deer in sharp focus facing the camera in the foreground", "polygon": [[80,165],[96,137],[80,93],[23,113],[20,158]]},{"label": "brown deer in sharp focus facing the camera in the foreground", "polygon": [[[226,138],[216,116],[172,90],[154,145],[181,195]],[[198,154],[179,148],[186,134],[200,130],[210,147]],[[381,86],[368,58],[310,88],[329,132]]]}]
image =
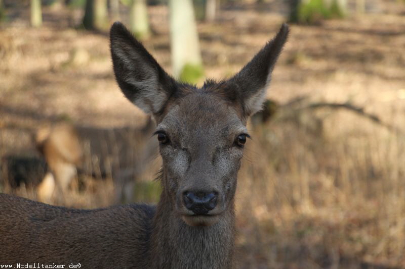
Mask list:
[{"label": "brown deer in sharp focus facing the camera in the foreground", "polygon": [[261,109],[288,33],[283,24],[233,77],[196,87],[172,78],[115,22],[115,79],[156,122],[163,160],[159,201],[86,210],[0,194],[0,263],[234,268],[234,201],[247,121]]}]

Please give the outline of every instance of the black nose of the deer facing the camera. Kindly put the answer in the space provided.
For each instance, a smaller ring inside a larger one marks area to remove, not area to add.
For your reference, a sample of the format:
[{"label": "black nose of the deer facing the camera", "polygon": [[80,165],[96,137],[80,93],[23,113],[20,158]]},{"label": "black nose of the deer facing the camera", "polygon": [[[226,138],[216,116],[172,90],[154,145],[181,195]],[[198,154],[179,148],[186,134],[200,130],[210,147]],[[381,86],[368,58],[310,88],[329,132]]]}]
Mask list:
[{"label": "black nose of the deer facing the camera", "polygon": [[183,193],[184,205],[196,215],[207,214],[217,205],[218,193],[216,192],[191,192]]}]

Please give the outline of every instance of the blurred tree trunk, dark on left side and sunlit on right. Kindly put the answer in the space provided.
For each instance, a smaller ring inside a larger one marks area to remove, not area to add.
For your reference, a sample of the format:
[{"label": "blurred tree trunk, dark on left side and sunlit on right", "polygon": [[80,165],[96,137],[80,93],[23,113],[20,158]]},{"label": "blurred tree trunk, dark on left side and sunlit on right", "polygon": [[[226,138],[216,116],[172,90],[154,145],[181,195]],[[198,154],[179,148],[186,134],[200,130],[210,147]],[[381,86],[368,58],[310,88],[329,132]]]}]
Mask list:
[{"label": "blurred tree trunk, dark on left side and sunlit on right", "polygon": [[83,25],[89,30],[108,28],[107,0],[87,0]]}]

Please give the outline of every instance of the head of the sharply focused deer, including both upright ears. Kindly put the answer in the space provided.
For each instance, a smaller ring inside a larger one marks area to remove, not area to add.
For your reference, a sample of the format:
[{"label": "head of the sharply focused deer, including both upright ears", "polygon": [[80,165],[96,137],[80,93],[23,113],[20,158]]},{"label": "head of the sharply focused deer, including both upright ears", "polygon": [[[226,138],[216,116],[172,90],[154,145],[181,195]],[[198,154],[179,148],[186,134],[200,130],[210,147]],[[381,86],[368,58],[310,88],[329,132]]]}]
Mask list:
[{"label": "head of the sharply focused deer, including both upright ears", "polygon": [[169,76],[123,24],[111,27],[115,78],[125,96],[156,121],[163,195],[186,224],[210,226],[233,210],[249,138],[246,123],[262,107],[288,32],[282,25],[232,78],[197,88]]}]

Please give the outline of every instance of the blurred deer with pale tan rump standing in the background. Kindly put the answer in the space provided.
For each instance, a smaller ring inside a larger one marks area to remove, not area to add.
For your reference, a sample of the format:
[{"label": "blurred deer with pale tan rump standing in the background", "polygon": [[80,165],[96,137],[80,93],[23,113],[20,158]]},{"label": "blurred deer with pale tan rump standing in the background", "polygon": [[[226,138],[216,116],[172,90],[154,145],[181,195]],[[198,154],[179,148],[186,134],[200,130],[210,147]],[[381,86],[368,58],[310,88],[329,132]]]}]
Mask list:
[{"label": "blurred deer with pale tan rump standing in the background", "polygon": [[69,185],[79,175],[85,181],[111,178],[116,202],[131,201],[134,180],[157,153],[157,143],[148,139],[153,128],[151,119],[139,128],[103,129],[69,123],[39,128],[36,147],[54,175],[56,197],[64,202]]}]

